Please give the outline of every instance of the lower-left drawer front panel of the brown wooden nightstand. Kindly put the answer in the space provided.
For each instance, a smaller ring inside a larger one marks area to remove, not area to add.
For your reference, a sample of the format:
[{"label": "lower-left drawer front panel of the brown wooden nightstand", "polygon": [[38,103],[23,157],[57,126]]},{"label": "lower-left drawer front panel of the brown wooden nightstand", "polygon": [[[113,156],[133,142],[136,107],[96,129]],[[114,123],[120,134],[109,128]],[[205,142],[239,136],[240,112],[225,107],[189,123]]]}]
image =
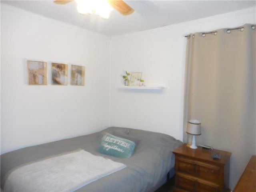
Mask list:
[{"label": "lower-left drawer front panel of the brown wooden nightstand", "polygon": [[196,186],[196,181],[190,178],[186,178],[184,176],[175,175],[175,186],[188,190],[188,191],[194,191]]}]

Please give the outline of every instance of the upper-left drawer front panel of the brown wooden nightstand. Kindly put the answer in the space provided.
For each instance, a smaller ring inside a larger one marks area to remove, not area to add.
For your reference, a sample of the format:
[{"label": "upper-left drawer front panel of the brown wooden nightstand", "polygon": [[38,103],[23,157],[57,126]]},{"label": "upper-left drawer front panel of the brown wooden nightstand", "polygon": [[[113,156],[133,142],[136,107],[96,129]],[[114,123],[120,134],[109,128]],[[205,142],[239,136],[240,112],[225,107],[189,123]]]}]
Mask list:
[{"label": "upper-left drawer front panel of the brown wooden nightstand", "polygon": [[176,167],[176,171],[179,171],[182,173],[190,174],[193,176],[196,173],[196,164],[194,164],[194,162],[191,162],[189,160],[176,158],[175,167]]}]

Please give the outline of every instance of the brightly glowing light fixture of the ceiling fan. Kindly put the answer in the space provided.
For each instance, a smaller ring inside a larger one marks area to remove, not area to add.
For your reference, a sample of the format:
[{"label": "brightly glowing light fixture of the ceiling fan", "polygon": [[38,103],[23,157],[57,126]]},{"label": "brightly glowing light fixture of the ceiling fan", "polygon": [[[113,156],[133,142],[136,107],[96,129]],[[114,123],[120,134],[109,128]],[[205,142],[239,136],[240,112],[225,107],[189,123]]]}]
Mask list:
[{"label": "brightly glowing light fixture of the ceiling fan", "polygon": [[77,11],[81,14],[96,13],[102,18],[108,19],[113,10],[107,0],[76,0]]}]

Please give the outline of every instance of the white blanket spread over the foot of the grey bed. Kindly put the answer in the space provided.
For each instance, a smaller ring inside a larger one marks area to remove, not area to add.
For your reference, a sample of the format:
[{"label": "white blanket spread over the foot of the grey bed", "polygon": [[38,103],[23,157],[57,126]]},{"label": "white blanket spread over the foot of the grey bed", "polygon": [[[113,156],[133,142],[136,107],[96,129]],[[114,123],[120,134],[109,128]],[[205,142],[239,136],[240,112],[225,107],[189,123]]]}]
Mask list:
[{"label": "white blanket spread over the foot of the grey bed", "polygon": [[22,166],[8,176],[4,192],[74,191],[126,165],[84,150]]}]

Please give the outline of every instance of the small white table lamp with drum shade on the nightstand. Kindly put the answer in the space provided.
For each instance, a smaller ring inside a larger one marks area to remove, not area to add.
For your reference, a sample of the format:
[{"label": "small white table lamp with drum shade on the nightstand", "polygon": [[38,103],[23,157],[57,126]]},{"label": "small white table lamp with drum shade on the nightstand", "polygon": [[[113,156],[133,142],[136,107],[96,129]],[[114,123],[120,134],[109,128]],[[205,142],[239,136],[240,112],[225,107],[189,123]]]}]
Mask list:
[{"label": "small white table lamp with drum shade on the nightstand", "polygon": [[188,127],[187,127],[187,133],[192,135],[192,145],[190,148],[196,149],[196,135],[201,135],[201,122],[198,120],[189,120],[188,121]]}]

